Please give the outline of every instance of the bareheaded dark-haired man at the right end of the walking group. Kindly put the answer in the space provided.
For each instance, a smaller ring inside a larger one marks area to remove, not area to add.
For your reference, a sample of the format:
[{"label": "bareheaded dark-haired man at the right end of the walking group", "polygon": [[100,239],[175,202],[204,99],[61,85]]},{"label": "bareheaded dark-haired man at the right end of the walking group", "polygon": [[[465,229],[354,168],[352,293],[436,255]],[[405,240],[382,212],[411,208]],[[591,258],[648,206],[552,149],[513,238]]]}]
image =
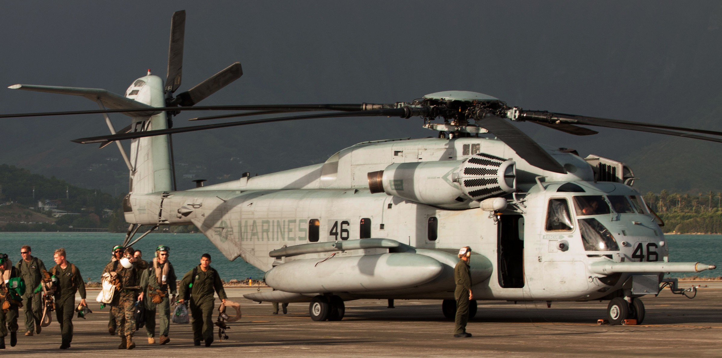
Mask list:
[{"label": "bareheaded dark-haired man at the right end of the walking group", "polygon": [[223,282],[218,276],[218,272],[211,267],[211,255],[203,254],[201,256],[201,264],[188,271],[181,280],[181,300],[178,302],[183,304],[187,300],[186,294],[190,295],[191,308],[191,324],[193,325],[193,345],[200,346],[201,339],[206,346],[211,346],[213,342],[213,306],[215,298],[213,291],[218,293],[218,297],[226,302],[225,290],[223,290]]}]

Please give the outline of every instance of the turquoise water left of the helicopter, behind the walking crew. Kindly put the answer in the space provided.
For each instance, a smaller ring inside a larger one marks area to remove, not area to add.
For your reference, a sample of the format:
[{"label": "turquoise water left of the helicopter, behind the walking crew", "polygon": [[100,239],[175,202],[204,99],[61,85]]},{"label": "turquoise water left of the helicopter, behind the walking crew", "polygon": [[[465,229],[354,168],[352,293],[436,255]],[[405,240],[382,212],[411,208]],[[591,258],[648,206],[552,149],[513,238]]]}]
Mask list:
[{"label": "turquoise water left of the helicopter, behind the walking crew", "polygon": [[[45,267],[50,269],[55,265],[53,252],[64,247],[68,254],[66,259],[76,264],[82,277],[98,282],[103,268],[110,261],[113,246],[123,243],[125,237],[124,233],[0,233],[0,252],[9,254],[15,264],[21,259],[20,246],[30,245],[32,256],[43,260]],[[150,233],[133,248],[143,251],[143,259],[150,261],[159,245],[170,246],[170,262],[178,279],[199,264],[204,253],[211,255],[211,266],[225,281],[264,277],[264,272],[242,259],[228,261],[201,233]]]}]

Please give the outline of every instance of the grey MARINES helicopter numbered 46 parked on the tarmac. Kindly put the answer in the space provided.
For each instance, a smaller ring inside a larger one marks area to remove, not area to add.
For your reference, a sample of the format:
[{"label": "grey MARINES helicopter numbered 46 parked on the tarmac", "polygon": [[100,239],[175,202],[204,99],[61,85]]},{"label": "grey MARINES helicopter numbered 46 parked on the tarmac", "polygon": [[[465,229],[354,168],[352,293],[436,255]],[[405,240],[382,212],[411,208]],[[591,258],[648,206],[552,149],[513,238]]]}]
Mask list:
[{"label": "grey MARINES helicopter numbered 46 parked on the tarmac", "polygon": [[[130,223],[126,243],[140,225],[152,226],[143,236],[162,225],[196,225],[227,259],[240,256],[266,272],[266,283],[277,290],[245,295],[251,300],[310,301],[314,321],[338,321],[346,300],[432,299],[443,300],[443,313],[451,317],[456,252],[471,246],[476,300],[609,300],[611,323],[641,323],[640,297],[664,286],[694,293],[679,289],[665,272],[715,268],[669,262],[664,224],[632,187],[628,166],[541,148],[510,122],[573,135],[597,133],[584,125],[722,142],[720,132],[529,111],[470,91],[393,104],[193,107],[242,71],[234,63],[174,96],[181,84],[184,26],[185,12],[176,12],[165,81],[149,72],[124,95],[17,84],[10,88],[83,96],[100,110],[1,117],[103,113],[112,135],[74,141],[115,141],[120,148],[130,171],[123,200]],[[171,128],[174,115],[199,109],[243,111],[199,119],[295,114]],[[109,112],[131,117],[131,125],[116,133]],[[438,136],[358,143],[321,164],[175,190],[173,133],[364,116],[420,117]],[[129,155],[120,143],[126,139]]]}]

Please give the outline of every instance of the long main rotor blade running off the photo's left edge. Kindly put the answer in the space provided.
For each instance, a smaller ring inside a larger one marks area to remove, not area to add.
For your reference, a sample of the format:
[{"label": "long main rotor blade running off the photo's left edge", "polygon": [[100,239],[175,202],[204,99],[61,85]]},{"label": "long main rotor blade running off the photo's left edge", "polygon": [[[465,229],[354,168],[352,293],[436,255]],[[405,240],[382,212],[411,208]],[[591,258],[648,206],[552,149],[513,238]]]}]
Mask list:
[{"label": "long main rotor blade running off the photo's left edge", "polygon": [[[307,111],[344,111],[354,112],[367,109],[381,108],[388,104],[250,104],[241,106],[195,106],[195,107],[150,107],[157,112],[162,111],[283,111],[283,112],[307,112]],[[14,113],[11,115],[0,115],[0,118],[22,118],[22,117],[43,117],[54,115],[95,115],[97,113],[120,113],[120,112],[148,112],[148,108],[125,108],[125,109],[91,109],[87,111],[61,111],[61,112],[37,112],[37,113]]]}]

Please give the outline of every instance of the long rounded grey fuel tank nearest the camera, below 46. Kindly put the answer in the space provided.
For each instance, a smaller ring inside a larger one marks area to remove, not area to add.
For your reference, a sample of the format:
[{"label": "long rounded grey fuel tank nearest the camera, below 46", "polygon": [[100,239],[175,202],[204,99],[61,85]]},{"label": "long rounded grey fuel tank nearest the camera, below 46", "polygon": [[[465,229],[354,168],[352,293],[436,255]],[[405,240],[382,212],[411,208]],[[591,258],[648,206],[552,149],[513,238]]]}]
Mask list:
[{"label": "long rounded grey fuel tank nearest the camera, below 46", "polygon": [[264,278],[285,292],[354,292],[422,285],[441,272],[439,261],[401,252],[291,261],[270,269]]}]

